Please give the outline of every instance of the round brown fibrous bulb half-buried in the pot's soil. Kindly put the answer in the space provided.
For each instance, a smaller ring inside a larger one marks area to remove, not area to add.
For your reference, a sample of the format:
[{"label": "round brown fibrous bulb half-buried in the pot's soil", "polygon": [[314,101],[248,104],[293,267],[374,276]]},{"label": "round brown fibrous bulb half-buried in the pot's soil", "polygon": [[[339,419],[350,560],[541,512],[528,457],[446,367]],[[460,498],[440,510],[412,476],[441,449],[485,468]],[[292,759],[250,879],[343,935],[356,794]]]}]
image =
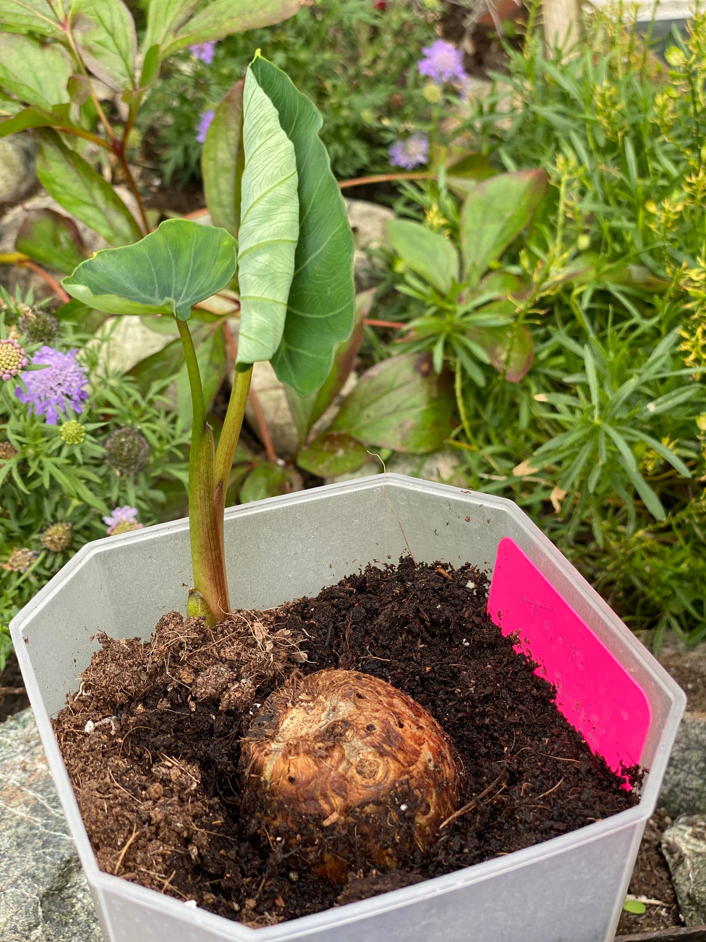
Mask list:
[{"label": "round brown fibrous bulb half-buried in the pot's soil", "polygon": [[243,739],[240,769],[252,828],[335,884],[426,853],[456,803],[455,753],[439,723],[356,671],[275,690]]}]

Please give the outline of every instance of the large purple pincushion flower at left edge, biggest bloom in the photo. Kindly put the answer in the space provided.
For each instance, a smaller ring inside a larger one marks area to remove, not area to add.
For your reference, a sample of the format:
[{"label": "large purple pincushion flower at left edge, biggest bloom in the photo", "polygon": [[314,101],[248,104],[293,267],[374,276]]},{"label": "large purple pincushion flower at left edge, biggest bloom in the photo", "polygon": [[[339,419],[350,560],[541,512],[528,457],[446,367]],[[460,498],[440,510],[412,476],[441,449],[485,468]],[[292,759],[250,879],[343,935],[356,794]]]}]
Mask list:
[{"label": "large purple pincushion flower at left edge, biggest bloom in the photo", "polygon": [[32,363],[45,365],[45,368],[24,371],[26,392],[20,386],[15,389],[15,396],[21,402],[34,406],[37,415],[46,415],[47,425],[56,425],[58,414],[66,414],[69,406],[74,412],[82,412],[82,402],[88,399],[88,381],[83,366],[76,363],[77,352],[72,349],[61,353],[51,347],[40,347]]}]

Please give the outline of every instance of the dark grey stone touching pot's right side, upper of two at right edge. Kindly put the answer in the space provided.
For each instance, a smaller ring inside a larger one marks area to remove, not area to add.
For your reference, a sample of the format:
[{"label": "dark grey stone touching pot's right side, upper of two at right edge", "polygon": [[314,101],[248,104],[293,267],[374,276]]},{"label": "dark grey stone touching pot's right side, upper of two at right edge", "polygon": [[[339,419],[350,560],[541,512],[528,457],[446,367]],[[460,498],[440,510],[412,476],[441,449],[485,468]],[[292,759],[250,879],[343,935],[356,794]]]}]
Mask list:
[{"label": "dark grey stone touching pot's right side, upper of two at right edge", "polygon": [[658,804],[672,818],[706,814],[706,713],[684,714]]}]

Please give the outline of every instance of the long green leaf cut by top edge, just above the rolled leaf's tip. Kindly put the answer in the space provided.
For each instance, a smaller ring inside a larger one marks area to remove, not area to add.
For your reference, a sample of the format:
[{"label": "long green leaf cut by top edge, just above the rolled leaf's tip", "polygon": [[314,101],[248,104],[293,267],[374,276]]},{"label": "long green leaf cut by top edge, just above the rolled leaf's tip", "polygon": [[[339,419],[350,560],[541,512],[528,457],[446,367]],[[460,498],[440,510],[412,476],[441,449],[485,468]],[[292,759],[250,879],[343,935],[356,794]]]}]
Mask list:
[{"label": "long green leaf cut by top edge, just above the rolled leaf's tip", "polygon": [[260,29],[281,23],[294,16],[302,0],[214,0],[204,7],[180,29],[167,43],[165,56],[197,42],[222,40],[232,33],[244,33],[249,29]]}]

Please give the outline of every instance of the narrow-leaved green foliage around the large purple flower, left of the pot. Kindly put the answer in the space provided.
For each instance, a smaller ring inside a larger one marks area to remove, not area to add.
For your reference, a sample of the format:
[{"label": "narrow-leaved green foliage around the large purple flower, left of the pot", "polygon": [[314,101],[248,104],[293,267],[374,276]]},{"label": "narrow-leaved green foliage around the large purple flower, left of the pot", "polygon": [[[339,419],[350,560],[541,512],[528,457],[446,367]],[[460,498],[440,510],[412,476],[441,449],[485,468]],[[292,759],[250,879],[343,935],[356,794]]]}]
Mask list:
[{"label": "narrow-leaved green foliage around the large purple flower, left of the pot", "polygon": [[[15,303],[6,294],[0,301],[0,335],[15,335],[30,354],[39,347],[23,333],[31,300]],[[143,394],[134,380],[107,370],[104,345],[89,340],[64,322],[53,343],[80,350],[88,377],[80,414],[68,408],[50,425],[16,398],[17,381],[0,381],[0,668],[10,619],[80,546],[105,536],[104,515],[130,505],[149,525],[181,512],[187,439],[177,414],[167,411],[168,380],[152,382]],[[104,444],[126,428],[144,436],[149,457],[136,473],[117,474]],[[56,524],[70,525],[65,539],[50,539]]]}]

